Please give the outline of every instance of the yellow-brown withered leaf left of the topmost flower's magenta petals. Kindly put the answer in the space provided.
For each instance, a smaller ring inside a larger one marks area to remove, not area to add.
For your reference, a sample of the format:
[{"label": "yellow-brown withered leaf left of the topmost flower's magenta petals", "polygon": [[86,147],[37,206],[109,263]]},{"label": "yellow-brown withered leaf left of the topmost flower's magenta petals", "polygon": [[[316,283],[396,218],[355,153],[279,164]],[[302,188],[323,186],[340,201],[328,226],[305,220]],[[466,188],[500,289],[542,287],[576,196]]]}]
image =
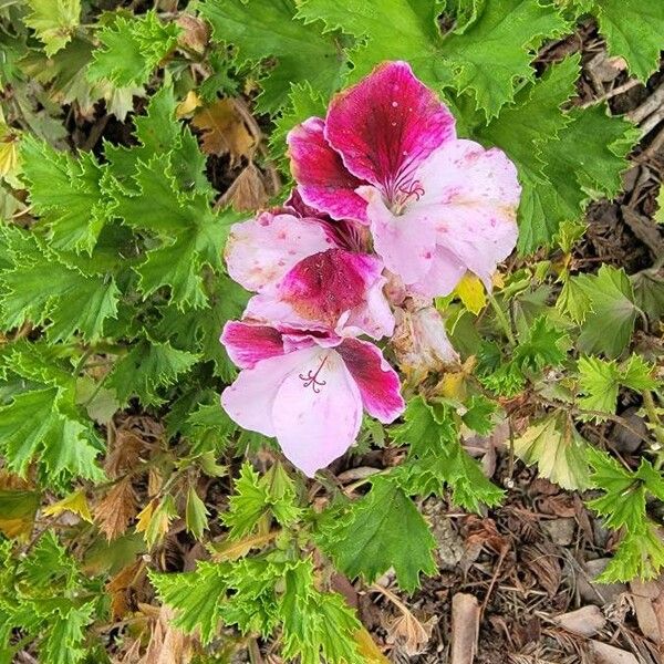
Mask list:
[{"label": "yellow-brown withered leaf left of the topmost flower's magenta petals", "polygon": [[203,152],[208,155],[230,155],[231,165],[253,153],[256,141],[232,100],[219,100],[201,108],[191,125],[203,133]]}]

